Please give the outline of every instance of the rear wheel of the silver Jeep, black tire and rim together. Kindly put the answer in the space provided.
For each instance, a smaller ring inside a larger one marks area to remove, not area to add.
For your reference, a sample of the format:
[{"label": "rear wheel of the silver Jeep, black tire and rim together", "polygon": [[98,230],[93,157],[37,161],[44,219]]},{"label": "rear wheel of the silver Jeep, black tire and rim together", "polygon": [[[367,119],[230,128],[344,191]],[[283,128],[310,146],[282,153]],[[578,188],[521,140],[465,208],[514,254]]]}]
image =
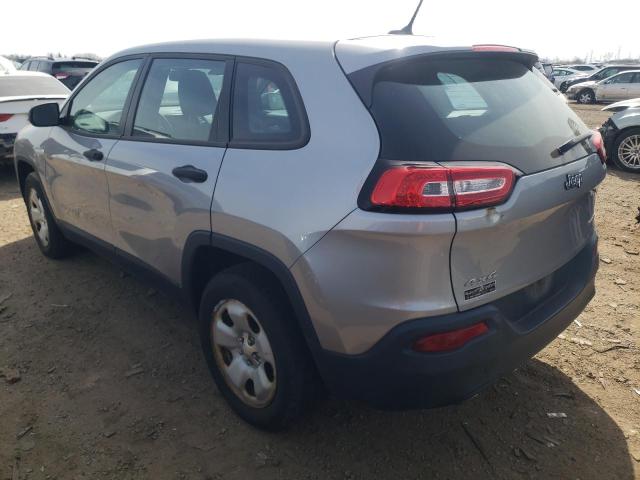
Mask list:
[{"label": "rear wheel of the silver Jeep, black tire and rim together", "polygon": [[320,386],[315,365],[286,300],[260,267],[241,264],[213,277],[199,326],[211,375],[242,419],[277,431],[311,407]]}]

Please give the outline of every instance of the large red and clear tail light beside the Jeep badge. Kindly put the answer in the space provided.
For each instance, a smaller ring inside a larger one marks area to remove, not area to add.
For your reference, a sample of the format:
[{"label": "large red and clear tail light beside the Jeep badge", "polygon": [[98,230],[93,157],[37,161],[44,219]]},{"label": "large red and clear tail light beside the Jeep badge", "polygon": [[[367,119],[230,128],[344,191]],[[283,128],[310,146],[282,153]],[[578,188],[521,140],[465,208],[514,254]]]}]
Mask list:
[{"label": "large red and clear tail light beside the Jeep badge", "polygon": [[371,204],[449,211],[485,208],[506,201],[514,183],[509,167],[391,167],[378,179]]}]

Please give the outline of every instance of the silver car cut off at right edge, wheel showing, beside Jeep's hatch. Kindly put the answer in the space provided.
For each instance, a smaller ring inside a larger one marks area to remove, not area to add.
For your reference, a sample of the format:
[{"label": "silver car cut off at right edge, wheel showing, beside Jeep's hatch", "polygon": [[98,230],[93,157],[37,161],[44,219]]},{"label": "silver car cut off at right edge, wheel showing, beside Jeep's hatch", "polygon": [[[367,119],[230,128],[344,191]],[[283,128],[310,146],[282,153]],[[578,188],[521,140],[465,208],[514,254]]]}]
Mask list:
[{"label": "silver car cut off at right edge, wheel showing, beside Jeep's hatch", "polygon": [[609,159],[621,170],[640,173],[640,98],[610,109],[613,115],[600,128]]}]

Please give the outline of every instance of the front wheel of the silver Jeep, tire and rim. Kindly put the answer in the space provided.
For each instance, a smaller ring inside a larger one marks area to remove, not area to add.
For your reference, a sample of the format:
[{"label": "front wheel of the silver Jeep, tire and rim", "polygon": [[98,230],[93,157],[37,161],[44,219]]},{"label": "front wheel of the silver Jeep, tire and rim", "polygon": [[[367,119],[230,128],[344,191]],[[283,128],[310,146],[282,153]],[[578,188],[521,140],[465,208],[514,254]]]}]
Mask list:
[{"label": "front wheel of the silver Jeep, tire and rim", "polygon": [[73,244],[58,228],[40,180],[35,173],[27,175],[25,180],[24,201],[33,236],[43,255],[55,259],[69,255],[73,251]]}]

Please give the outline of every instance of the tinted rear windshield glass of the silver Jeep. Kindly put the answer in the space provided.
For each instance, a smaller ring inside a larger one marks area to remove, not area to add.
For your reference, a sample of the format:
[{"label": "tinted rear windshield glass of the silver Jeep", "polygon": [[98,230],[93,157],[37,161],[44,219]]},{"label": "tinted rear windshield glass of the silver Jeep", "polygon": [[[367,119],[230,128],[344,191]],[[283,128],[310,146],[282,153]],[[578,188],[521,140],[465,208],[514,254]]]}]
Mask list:
[{"label": "tinted rear windshield glass of the silver Jeep", "polygon": [[587,153],[574,149],[552,159],[587,128],[549,82],[516,61],[401,61],[373,82],[371,113],[384,159],[497,161],[527,173]]}]

